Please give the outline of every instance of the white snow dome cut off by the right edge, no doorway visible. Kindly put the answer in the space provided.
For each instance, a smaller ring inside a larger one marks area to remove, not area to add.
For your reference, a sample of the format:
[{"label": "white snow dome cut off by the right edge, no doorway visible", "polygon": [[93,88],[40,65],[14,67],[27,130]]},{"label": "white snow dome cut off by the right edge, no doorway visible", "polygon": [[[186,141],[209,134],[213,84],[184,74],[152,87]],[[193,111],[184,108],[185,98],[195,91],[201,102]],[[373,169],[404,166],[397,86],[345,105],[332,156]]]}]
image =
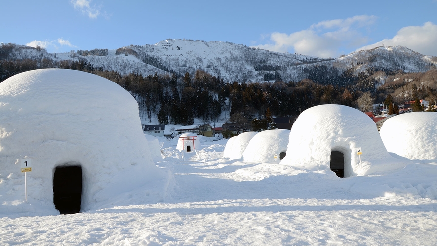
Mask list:
[{"label": "white snow dome cut off by the right edge, no doorway visible", "polygon": [[437,113],[412,112],[384,122],[379,132],[389,152],[408,159],[437,159]]}]

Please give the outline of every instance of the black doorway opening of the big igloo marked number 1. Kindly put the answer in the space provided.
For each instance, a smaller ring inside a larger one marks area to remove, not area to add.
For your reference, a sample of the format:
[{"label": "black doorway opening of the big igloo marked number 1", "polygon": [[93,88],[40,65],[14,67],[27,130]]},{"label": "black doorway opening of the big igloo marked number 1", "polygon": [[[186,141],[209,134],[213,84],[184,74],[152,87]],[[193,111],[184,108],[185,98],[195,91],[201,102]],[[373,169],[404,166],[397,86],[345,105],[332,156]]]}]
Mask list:
[{"label": "black doorway opening of the big igloo marked number 1", "polygon": [[53,203],[61,214],[79,213],[82,198],[82,167],[58,166],[53,176]]}]

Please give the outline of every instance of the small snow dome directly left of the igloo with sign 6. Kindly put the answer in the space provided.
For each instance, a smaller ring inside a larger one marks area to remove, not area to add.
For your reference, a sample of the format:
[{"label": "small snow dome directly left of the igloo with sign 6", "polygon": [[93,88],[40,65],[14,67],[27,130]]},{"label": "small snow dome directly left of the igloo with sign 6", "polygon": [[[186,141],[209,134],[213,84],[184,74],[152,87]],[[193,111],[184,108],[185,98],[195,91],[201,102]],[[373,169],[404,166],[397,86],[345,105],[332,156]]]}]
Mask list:
[{"label": "small snow dome directly left of the igloo with sign 6", "polygon": [[244,150],[244,161],[278,164],[287,152],[289,136],[290,130],[261,131],[253,136]]}]

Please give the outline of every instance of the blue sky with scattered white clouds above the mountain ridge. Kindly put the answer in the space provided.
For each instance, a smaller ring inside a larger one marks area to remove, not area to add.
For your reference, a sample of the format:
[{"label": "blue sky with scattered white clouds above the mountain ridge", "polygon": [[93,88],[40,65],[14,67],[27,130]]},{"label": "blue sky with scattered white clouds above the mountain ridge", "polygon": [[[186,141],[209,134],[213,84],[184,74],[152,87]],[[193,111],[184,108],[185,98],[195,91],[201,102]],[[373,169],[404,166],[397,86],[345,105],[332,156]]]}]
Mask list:
[{"label": "blue sky with scattered white clouds above the mountain ridge", "polygon": [[377,45],[437,56],[437,0],[0,0],[0,42],[48,52],[165,39],[338,57]]}]

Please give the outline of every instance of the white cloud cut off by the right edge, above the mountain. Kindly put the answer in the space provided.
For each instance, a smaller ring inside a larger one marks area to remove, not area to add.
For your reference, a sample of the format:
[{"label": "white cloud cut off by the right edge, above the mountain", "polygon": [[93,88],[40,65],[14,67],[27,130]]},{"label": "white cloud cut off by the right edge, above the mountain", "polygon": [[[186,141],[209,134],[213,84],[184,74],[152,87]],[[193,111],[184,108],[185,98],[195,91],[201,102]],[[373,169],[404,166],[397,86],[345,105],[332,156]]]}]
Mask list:
[{"label": "white cloud cut off by the right edge, above the mountain", "polygon": [[408,26],[401,28],[392,39],[384,39],[377,43],[366,45],[361,49],[371,49],[382,44],[386,46],[401,45],[424,55],[437,56],[437,25],[426,22],[423,26]]}]

